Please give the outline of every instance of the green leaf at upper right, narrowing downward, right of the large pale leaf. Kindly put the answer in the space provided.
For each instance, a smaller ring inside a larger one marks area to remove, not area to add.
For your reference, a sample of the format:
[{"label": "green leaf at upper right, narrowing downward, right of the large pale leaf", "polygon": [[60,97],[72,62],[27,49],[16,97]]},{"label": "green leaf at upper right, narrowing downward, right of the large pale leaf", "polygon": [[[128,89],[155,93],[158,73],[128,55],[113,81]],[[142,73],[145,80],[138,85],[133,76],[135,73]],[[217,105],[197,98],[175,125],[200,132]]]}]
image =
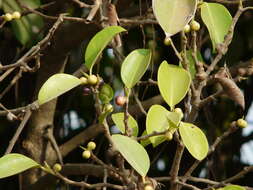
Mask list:
[{"label": "green leaf at upper right, narrowing downward, right of the large pale leaf", "polygon": [[209,31],[213,50],[217,44],[224,41],[232,23],[232,16],[222,4],[203,3],[201,4],[201,18]]}]

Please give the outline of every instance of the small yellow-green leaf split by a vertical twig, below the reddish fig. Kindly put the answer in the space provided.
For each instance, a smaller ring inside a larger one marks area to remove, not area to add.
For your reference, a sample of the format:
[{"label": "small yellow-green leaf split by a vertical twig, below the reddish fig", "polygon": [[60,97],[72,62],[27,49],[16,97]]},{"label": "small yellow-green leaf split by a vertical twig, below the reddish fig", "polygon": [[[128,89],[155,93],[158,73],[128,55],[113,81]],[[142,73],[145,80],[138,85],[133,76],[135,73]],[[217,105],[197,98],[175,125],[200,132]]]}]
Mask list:
[{"label": "small yellow-green leaf split by a vertical twig, below the reddish fig", "polygon": [[[124,113],[122,112],[122,113],[112,114],[112,120],[115,123],[115,125],[119,128],[121,133],[124,134],[125,133]],[[138,123],[131,115],[129,115],[127,124],[128,124],[128,127],[133,130],[132,135],[137,137],[138,131],[139,131]]]}]

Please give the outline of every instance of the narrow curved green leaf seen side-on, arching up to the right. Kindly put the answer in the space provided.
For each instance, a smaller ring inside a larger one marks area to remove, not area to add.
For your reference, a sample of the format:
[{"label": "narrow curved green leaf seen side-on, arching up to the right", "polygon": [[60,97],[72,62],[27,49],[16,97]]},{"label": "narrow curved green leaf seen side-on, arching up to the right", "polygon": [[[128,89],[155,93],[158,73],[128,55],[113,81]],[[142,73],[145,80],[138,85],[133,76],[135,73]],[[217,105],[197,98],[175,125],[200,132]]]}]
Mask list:
[{"label": "narrow curved green leaf seen side-on, arching up to the right", "polygon": [[89,42],[85,51],[85,65],[92,71],[93,65],[96,63],[99,55],[113,39],[113,37],[120,32],[126,31],[120,26],[109,26],[98,32]]}]

